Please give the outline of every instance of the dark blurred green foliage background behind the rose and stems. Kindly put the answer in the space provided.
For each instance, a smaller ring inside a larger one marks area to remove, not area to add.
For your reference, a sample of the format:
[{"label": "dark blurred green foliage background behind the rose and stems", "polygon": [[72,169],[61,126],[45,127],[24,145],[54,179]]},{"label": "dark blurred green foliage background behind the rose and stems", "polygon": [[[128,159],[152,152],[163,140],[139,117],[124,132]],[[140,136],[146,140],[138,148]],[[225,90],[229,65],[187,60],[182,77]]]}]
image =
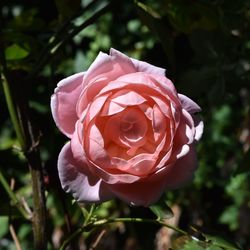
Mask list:
[{"label": "dark blurred green foliage background behind the rose and stems", "polygon": [[[50,96],[59,80],[85,71],[110,47],[166,68],[178,92],[202,108],[205,130],[195,178],[163,197],[175,214],[172,223],[194,237],[203,232],[250,249],[250,1],[2,0],[0,5],[1,51],[40,135],[49,249],[59,249],[84,222],[82,209],[58,180],[57,156],[67,138],[52,120]],[[2,85],[0,172],[18,200],[32,207],[30,172]],[[95,216],[155,218],[149,208],[119,200],[99,205]],[[1,182],[0,249],[33,249],[32,237],[31,224]],[[157,225],[124,223],[86,232],[68,249],[163,250],[170,241],[173,249],[222,249],[185,243]]]}]

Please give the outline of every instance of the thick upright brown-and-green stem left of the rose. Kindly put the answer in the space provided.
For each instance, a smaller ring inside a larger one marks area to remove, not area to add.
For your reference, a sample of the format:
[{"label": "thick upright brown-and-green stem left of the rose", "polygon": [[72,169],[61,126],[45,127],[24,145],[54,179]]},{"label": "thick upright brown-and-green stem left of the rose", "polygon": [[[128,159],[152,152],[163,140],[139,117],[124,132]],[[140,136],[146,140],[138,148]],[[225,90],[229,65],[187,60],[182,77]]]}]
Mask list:
[{"label": "thick upright brown-and-green stem left of the rose", "polygon": [[[0,29],[1,30],[1,29]],[[33,190],[33,213],[32,225],[34,235],[34,249],[46,250],[46,207],[43,189],[43,175],[40,155],[38,151],[38,140],[34,135],[34,128],[28,115],[28,98],[23,90],[25,85],[20,86],[9,72],[4,56],[4,45],[0,33],[0,65],[1,79],[3,80],[4,94],[10,113],[10,117],[21,145],[21,149],[28,161],[31,173]],[[22,82],[22,79],[18,79]]]}]

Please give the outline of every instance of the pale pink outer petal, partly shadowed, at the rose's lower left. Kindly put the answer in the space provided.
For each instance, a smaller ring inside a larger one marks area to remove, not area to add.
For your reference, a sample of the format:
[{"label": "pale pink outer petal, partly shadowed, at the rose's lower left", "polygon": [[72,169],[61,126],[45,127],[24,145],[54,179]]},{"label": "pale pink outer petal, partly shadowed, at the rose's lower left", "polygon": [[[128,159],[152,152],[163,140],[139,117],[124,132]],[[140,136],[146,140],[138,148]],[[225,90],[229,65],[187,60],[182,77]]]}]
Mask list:
[{"label": "pale pink outer petal, partly shadowed, at the rose's lower left", "polygon": [[[61,185],[72,193],[78,202],[102,202],[112,198],[106,184],[89,171],[80,171],[73,158],[70,142],[64,145],[58,158],[58,173]],[[81,166],[84,168],[84,166]]]}]

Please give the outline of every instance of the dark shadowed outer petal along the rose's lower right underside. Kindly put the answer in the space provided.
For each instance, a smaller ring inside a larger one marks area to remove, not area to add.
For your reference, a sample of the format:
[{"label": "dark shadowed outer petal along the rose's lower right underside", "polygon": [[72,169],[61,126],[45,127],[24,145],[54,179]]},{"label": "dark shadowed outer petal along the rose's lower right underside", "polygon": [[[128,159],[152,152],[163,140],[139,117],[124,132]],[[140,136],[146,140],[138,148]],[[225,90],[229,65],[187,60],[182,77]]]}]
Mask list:
[{"label": "dark shadowed outer petal along the rose's lower right underside", "polygon": [[110,189],[125,202],[137,206],[149,206],[160,198],[166,188],[177,188],[190,181],[196,167],[196,153],[194,146],[191,145],[189,153],[177,160],[174,165],[166,166],[165,169],[142,181],[129,185],[110,185]]}]

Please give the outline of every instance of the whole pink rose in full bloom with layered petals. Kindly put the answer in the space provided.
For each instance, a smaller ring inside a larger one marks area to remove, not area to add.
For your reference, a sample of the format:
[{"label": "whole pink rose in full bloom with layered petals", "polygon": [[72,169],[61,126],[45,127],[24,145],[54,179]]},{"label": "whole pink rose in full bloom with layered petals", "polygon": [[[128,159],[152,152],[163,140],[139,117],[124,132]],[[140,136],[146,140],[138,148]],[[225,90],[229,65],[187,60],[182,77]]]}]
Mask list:
[{"label": "whole pink rose in full bloom with layered petals", "polygon": [[79,202],[117,196],[148,206],[193,177],[201,109],[177,94],[162,68],[101,52],[86,72],[59,82],[51,109],[70,138],[59,178]]}]

